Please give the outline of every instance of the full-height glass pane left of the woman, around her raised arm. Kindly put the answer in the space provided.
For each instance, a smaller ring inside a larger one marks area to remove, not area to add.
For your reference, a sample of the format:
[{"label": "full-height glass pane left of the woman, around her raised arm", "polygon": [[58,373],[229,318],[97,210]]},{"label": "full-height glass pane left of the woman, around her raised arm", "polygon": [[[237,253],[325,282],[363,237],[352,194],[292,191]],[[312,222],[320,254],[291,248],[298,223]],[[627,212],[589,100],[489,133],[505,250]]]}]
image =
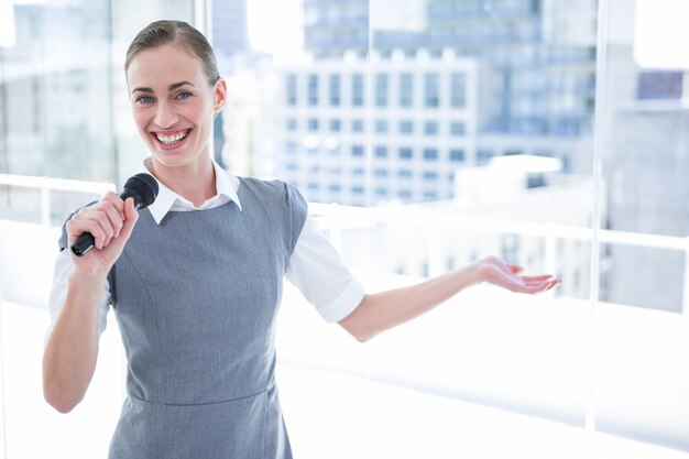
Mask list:
[{"label": "full-height glass pane left of the woman, around her raised arm", "polygon": [[113,320],[78,408],[65,416],[43,400],[57,238],[68,212],[121,184],[145,155],[123,77],[129,42],[161,17],[193,22],[194,10],[192,0],[0,2],[2,458],[107,456],[124,396]]}]

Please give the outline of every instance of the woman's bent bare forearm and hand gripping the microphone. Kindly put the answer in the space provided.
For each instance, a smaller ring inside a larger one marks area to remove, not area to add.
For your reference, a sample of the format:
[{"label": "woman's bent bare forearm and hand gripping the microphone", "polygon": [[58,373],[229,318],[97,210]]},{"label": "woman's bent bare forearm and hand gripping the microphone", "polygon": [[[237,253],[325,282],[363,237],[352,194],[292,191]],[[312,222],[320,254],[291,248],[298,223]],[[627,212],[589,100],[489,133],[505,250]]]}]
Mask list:
[{"label": "woman's bent bare forearm and hand gripping the microphone", "polygon": [[98,358],[98,308],[108,272],[131,236],[138,214],[133,199],[127,205],[113,193],[95,206],[77,212],[66,225],[69,243],[88,231],[95,248],[74,256],[67,294],[43,354],[43,394],[61,413],[72,411],[96,370]]}]

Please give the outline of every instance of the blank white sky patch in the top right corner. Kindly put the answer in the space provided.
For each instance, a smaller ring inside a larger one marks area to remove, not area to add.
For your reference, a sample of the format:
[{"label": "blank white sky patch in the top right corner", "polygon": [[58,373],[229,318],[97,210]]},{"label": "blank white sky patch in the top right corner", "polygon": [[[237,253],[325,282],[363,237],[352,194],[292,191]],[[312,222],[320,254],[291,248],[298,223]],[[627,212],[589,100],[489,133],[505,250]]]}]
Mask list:
[{"label": "blank white sky patch in the top right corner", "polygon": [[689,68],[689,1],[636,0],[634,58],[646,68]]}]

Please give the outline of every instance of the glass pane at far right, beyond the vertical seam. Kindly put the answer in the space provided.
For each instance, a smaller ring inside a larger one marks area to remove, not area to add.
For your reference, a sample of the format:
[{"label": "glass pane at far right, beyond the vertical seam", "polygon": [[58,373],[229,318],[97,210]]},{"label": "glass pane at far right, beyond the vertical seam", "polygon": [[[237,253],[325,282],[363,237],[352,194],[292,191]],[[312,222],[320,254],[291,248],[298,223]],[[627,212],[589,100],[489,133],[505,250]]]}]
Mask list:
[{"label": "glass pane at far right, beyond the vertical seam", "polygon": [[606,17],[597,426],[689,451],[689,9],[611,1]]}]

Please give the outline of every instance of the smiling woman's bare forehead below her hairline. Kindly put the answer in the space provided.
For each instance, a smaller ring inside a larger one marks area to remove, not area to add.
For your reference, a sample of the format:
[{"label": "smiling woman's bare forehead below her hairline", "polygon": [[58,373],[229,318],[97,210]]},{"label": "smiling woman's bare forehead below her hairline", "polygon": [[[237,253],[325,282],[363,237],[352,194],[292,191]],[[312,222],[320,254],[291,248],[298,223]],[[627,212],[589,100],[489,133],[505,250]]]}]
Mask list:
[{"label": "smiling woman's bare forehead below her hairline", "polygon": [[165,44],[138,53],[127,70],[127,80],[130,88],[144,86],[154,90],[182,80],[198,85],[204,80],[204,66],[179,46]]}]

